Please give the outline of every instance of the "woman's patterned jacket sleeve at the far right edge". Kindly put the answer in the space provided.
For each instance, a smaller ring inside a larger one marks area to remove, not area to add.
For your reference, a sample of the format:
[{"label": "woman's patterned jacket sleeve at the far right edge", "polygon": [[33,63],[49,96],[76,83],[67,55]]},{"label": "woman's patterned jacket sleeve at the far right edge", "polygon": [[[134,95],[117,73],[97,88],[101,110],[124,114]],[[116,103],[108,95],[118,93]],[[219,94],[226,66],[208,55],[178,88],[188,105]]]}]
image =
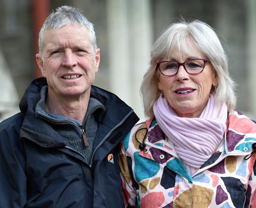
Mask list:
[{"label": "woman's patterned jacket sleeve at the far right edge", "polygon": [[256,154],[254,153],[249,161],[249,179],[246,192],[245,208],[256,207]]}]

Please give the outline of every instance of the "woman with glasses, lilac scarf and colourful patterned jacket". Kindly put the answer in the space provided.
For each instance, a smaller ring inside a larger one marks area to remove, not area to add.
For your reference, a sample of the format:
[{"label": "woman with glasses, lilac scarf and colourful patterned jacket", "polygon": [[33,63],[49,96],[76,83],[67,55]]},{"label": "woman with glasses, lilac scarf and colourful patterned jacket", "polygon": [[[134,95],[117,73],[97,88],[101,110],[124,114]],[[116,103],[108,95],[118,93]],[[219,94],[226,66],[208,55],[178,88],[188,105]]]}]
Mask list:
[{"label": "woman with glasses, lilac scarf and colourful patterned jacket", "polygon": [[119,154],[126,207],[256,207],[256,124],[233,109],[234,82],[214,30],[171,25],[142,85],[145,115]]}]

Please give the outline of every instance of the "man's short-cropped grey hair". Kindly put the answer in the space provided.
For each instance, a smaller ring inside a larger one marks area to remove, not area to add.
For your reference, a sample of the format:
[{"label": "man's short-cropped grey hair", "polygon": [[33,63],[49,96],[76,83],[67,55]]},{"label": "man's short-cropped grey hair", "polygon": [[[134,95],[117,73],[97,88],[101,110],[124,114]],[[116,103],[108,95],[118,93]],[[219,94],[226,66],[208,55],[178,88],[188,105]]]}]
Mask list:
[{"label": "man's short-cropped grey hair", "polygon": [[43,26],[39,32],[39,54],[42,55],[43,52],[43,33],[46,29],[59,29],[68,24],[85,26],[89,32],[89,39],[93,44],[94,52],[97,52],[97,43],[95,32],[93,29],[93,24],[87,20],[87,18],[81,13],[80,9],[76,9],[72,6],[61,6],[52,12],[43,23]]}]

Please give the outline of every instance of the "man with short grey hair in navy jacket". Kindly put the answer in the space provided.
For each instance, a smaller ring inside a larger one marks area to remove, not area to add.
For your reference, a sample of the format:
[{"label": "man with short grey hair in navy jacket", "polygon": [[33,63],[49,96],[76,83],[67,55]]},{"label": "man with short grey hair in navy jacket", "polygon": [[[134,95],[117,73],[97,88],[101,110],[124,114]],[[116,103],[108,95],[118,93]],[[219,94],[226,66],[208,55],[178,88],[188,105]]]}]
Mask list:
[{"label": "man with short grey hair in navy jacket", "polygon": [[124,207],[117,149],[138,117],[92,86],[93,24],[59,7],[41,28],[36,59],[43,78],[29,85],[21,113],[0,124],[0,207]]}]

